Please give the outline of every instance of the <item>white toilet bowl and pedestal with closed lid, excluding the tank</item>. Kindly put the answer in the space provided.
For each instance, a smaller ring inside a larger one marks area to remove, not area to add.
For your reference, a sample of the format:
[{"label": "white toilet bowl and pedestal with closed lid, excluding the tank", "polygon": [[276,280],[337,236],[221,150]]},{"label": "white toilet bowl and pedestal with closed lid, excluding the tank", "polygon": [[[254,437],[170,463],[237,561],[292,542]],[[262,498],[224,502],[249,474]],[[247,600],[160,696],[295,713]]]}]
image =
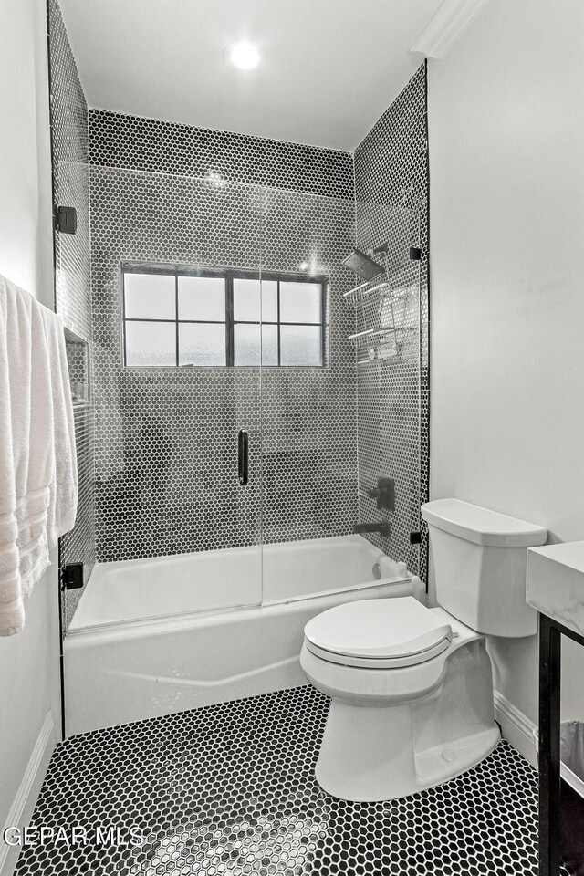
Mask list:
[{"label": "white toilet bowl and pedestal with closed lid, excluding the tank", "polygon": [[485,638],[413,597],[323,612],[305,628],[300,663],[332,699],[316,777],[333,797],[405,797],[499,741]]}]

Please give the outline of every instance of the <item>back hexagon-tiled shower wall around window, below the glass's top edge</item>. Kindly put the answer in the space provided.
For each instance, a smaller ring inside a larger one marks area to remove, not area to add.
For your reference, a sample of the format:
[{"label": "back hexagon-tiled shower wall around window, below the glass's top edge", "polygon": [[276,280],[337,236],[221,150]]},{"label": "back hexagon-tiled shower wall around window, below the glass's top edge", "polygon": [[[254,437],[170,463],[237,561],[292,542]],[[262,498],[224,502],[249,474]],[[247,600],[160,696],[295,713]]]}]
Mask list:
[{"label": "back hexagon-tiled shower wall around window, below the glass's top edge", "polygon": [[[93,167],[92,265],[101,561],[344,535],[357,516],[354,203]],[[120,264],[236,266],[328,283],[323,369],[124,368]],[[250,482],[236,436],[250,434]],[[262,502],[262,495],[264,496]]]}]

